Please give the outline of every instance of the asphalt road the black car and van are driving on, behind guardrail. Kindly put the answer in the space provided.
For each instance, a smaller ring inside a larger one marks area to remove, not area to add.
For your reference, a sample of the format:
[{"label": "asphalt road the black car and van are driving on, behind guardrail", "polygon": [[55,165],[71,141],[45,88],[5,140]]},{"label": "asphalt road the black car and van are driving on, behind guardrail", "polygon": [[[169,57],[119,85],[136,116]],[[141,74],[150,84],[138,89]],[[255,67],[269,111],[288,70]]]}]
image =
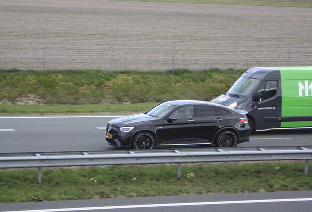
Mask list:
[{"label": "asphalt road the black car and van are driving on, behind guardrail", "polygon": [[[118,150],[105,142],[107,122],[117,117],[0,116],[0,153]],[[309,129],[256,132],[238,147],[307,146],[311,136]]]}]

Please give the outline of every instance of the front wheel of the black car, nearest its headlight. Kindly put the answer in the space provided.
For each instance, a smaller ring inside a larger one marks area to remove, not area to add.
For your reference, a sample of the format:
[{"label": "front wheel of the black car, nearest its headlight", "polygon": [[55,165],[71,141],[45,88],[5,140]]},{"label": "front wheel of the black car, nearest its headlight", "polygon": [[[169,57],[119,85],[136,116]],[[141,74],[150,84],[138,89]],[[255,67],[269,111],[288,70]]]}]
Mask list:
[{"label": "front wheel of the black car, nearest its headlight", "polygon": [[155,146],[154,136],[149,132],[140,132],[132,140],[132,149],[152,149]]}]

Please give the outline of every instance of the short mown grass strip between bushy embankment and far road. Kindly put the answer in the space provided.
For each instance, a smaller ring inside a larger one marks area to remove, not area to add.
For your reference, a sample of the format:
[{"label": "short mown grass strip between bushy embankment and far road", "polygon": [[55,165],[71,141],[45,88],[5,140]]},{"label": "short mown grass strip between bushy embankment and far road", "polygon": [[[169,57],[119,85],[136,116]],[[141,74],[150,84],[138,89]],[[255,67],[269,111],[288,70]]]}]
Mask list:
[{"label": "short mown grass strip between bushy embankment and far road", "polygon": [[85,104],[85,105],[8,105],[0,104],[0,115],[49,114],[133,114],[143,113],[157,103]]}]

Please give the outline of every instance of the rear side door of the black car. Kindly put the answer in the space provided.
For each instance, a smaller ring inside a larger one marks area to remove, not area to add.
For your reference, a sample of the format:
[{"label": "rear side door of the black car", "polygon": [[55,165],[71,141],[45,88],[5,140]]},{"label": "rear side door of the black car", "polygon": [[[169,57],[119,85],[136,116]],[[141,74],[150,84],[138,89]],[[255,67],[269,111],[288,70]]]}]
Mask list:
[{"label": "rear side door of the black car", "polygon": [[224,127],[225,118],[219,108],[197,106],[195,140],[212,142],[220,128]]}]

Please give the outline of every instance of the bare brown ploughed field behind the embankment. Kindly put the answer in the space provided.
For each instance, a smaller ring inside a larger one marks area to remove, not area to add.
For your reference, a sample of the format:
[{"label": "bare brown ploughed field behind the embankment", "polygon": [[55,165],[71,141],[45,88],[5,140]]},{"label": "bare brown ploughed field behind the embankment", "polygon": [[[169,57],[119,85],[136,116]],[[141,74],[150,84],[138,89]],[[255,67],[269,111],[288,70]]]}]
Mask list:
[{"label": "bare brown ploughed field behind the embankment", "polygon": [[312,8],[1,0],[0,68],[113,70],[312,65]]}]

